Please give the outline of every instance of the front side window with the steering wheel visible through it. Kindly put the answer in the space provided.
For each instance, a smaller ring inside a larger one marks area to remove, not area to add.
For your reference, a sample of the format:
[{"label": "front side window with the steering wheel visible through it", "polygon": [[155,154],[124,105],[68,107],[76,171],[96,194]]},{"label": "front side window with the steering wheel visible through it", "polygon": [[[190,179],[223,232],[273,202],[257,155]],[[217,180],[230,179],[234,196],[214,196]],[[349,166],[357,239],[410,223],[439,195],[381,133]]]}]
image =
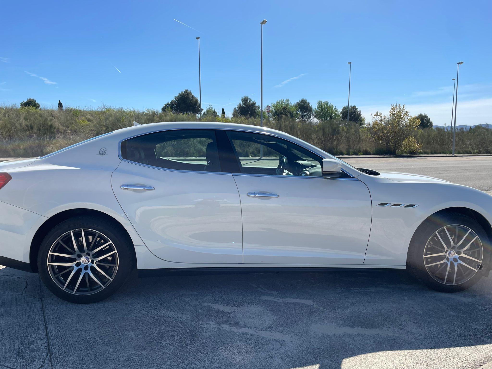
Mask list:
[{"label": "front side window with the steering wheel visible through it", "polygon": [[281,138],[228,131],[241,173],[282,176],[321,176],[322,158]]}]

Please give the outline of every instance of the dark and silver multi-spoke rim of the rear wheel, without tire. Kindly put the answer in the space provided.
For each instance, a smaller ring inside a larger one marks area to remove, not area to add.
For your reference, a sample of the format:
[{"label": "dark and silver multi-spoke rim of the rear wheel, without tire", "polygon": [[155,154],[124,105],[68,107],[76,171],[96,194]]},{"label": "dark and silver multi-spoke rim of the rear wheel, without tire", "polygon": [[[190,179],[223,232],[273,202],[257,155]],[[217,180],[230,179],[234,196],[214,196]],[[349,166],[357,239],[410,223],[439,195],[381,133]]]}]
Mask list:
[{"label": "dark and silver multi-spoke rim of the rear wheel, without tire", "polygon": [[47,265],[51,278],[64,291],[91,295],[106,288],[118,271],[113,242],[93,229],[73,229],[51,246]]}]

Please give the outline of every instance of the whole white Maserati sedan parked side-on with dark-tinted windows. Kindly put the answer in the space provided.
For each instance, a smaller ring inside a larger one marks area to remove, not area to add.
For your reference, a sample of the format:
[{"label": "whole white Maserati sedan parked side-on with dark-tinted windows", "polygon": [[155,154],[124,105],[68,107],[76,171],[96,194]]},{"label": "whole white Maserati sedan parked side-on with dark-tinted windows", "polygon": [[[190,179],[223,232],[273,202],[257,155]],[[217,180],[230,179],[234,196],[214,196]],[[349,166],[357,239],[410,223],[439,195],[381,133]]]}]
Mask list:
[{"label": "whole white Maserati sedan parked side-on with dark-tinted windows", "polygon": [[153,123],[0,163],[0,265],[92,303],[130,272],[395,268],[460,291],[491,268],[492,196],[354,168],[283,132]]}]

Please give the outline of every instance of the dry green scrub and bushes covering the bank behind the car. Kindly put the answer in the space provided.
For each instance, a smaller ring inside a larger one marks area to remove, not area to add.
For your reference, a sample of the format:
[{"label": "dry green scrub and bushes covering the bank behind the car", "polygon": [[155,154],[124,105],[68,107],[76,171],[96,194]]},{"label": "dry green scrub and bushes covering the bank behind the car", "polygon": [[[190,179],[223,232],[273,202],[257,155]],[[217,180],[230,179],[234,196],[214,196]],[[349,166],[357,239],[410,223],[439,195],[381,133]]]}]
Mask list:
[{"label": "dry green scrub and bushes covering the bank behind the car", "polygon": [[[62,108],[63,109],[63,108]],[[277,107],[277,109],[279,109]],[[352,109],[352,107],[351,107]],[[34,106],[0,106],[0,156],[39,156],[102,133],[141,124],[198,121],[196,114],[171,109],[97,110],[38,109]],[[417,117],[405,115],[404,105],[392,106],[389,116],[373,115],[373,122],[346,122],[340,115],[303,120],[295,114],[264,116],[264,125],[299,137],[331,154],[450,154],[453,133],[441,128],[419,128]],[[260,125],[257,117],[204,114],[202,121]],[[492,153],[492,130],[476,127],[456,134],[457,154]]]}]

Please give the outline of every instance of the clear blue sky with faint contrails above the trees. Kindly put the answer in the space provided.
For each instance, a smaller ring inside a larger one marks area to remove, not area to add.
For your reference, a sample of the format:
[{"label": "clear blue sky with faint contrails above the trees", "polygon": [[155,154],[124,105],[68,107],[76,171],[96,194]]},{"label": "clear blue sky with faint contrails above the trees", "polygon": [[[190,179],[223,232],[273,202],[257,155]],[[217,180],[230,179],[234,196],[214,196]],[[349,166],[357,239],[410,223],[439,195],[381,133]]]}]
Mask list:
[{"label": "clear blue sky with faint contrails above the trees", "polygon": [[[2,1],[0,103],[160,109],[183,89],[228,115],[243,95],[404,103],[449,125],[492,123],[492,1]],[[7,15],[7,16],[5,16]],[[178,20],[182,23],[179,23]]]}]

